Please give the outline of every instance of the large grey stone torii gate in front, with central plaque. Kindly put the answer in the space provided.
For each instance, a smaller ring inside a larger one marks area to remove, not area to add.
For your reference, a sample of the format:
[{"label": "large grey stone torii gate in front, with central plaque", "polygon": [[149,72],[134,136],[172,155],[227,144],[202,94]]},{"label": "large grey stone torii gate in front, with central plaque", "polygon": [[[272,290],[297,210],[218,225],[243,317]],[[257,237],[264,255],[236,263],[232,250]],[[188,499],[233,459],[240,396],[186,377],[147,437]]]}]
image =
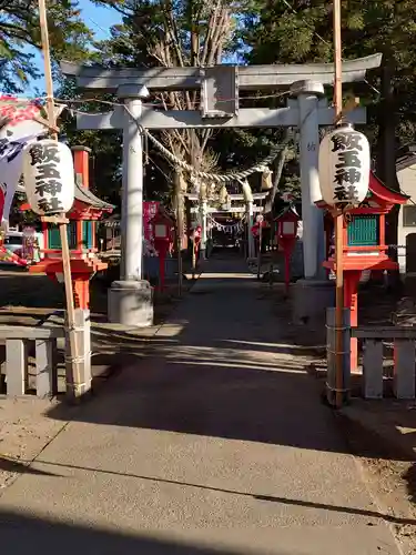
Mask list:
[{"label": "large grey stone torii gate in front, with central plaque", "polygon": [[[366,71],[381,64],[374,54],[343,64],[343,81],[363,81]],[[302,219],[305,283],[321,276],[324,261],[323,219],[315,201],[318,183],[319,125],[331,125],[334,109],[324,99],[324,85],[333,84],[333,64],[214,65],[211,68],[114,69],[61,64],[62,73],[77,78],[81,89],[116,93],[124,105],[97,114],[79,114],[78,129],[123,130],[122,260],[121,281],[109,292],[109,319],[131,326],[152,321],[151,291],[142,280],[142,132],[160,129],[280,128],[300,129]],[[200,110],[168,110],[144,107],[149,91],[201,91]],[[286,108],[240,108],[239,91],[287,91]],[[364,108],[347,115],[365,123]],[[134,121],[134,119],[136,121]],[[140,124],[140,127],[138,125]],[[311,296],[311,293],[308,293]]]}]

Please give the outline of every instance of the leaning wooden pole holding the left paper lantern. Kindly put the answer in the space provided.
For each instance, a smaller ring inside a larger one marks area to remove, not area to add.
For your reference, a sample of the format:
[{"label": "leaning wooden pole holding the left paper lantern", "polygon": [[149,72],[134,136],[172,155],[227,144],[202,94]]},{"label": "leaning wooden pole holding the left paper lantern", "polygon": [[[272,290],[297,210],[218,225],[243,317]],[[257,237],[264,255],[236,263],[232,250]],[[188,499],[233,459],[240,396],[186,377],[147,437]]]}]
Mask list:
[{"label": "leaning wooden pole holding the left paper lantern", "polygon": [[[39,20],[40,30],[42,39],[42,52],[44,62],[44,80],[47,87],[47,110],[48,110],[48,122],[51,128],[55,128],[54,118],[54,107],[53,107],[53,81],[52,81],[52,69],[51,69],[51,58],[49,48],[49,32],[48,32],[48,21],[47,21],[47,6],[45,0],[39,1]],[[51,134],[52,139],[58,141],[58,134],[53,132]],[[75,334],[75,312],[73,304],[73,291],[72,291],[72,279],[71,279],[71,262],[70,262],[70,251],[68,244],[68,232],[65,215],[55,219],[62,245],[62,265],[63,265],[63,278],[65,284],[65,296],[67,296],[67,312],[68,312],[68,325],[69,325],[69,337],[71,346],[71,360],[72,360],[72,383],[67,384],[67,391],[70,391],[70,396],[77,398],[80,396],[81,386],[81,375],[80,365],[78,362],[78,349],[77,349],[77,334]],[[68,386],[70,385],[70,390]]]}]

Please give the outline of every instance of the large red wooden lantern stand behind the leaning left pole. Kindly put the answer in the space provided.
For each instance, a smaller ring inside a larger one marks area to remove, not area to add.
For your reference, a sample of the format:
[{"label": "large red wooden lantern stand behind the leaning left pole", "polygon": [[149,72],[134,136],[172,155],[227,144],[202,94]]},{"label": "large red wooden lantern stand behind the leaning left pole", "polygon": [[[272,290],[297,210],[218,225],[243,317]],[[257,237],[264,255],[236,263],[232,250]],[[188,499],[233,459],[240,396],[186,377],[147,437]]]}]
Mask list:
[{"label": "large red wooden lantern stand behind the leaning left pole", "polygon": [[[112,212],[113,206],[98,199],[89,191],[89,152],[87,147],[74,147],[74,171],[77,176],[75,199],[68,213],[71,274],[75,307],[89,309],[90,280],[95,272],[108,268],[98,255],[95,222],[103,212]],[[20,210],[30,210],[23,204]],[[30,273],[45,273],[52,281],[63,281],[62,252],[59,245],[51,244],[55,228],[42,222],[44,238],[44,259],[33,264]]]}]

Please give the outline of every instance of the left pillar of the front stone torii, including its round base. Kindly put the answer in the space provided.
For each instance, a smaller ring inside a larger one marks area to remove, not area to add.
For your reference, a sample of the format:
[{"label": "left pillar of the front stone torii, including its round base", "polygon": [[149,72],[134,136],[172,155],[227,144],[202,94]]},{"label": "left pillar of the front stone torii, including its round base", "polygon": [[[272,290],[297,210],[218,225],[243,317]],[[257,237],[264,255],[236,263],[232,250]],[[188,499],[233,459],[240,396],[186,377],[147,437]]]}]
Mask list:
[{"label": "left pillar of the front stone torii, including its round base", "polygon": [[123,111],[123,189],[121,204],[120,281],[111,284],[109,321],[133,327],[153,324],[150,283],[142,280],[143,266],[143,138],[134,121],[142,115],[145,87],[122,85],[118,91]]}]

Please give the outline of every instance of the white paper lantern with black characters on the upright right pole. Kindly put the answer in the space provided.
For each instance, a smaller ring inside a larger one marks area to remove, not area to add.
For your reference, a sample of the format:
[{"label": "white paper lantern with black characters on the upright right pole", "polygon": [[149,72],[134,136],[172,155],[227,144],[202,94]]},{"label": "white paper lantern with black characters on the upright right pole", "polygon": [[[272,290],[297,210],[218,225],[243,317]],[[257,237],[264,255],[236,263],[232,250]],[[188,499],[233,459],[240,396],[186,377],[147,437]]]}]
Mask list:
[{"label": "white paper lantern with black characters on the upright right pole", "polygon": [[319,184],[327,204],[359,204],[368,192],[369,170],[368,140],[351,124],[336,128],[321,141]]}]

